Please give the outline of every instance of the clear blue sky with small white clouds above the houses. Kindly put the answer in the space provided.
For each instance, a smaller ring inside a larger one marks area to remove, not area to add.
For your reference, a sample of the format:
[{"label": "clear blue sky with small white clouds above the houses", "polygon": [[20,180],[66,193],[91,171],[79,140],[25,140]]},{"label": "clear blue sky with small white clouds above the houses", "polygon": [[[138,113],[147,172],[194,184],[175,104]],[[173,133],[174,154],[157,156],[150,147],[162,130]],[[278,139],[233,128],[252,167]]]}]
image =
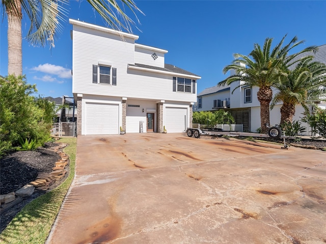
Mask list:
[{"label": "clear blue sky with small white clouds above the houses", "polygon": [[[233,53],[248,55],[265,38],[276,45],[287,34],[305,40],[296,51],[326,44],[326,1],[135,1],[145,15],[133,27],[137,43],[168,50],[167,64],[202,77],[198,93],[225,79],[222,70]],[[70,1],[55,48],[33,47],[23,39],[23,74],[42,97],[72,96],[72,26],[79,19],[106,26],[85,0]],[[133,18],[134,19],[134,18]],[[23,21],[23,35],[28,24]],[[8,73],[7,19],[1,22],[0,75]],[[273,45],[273,47],[274,47]]]}]

